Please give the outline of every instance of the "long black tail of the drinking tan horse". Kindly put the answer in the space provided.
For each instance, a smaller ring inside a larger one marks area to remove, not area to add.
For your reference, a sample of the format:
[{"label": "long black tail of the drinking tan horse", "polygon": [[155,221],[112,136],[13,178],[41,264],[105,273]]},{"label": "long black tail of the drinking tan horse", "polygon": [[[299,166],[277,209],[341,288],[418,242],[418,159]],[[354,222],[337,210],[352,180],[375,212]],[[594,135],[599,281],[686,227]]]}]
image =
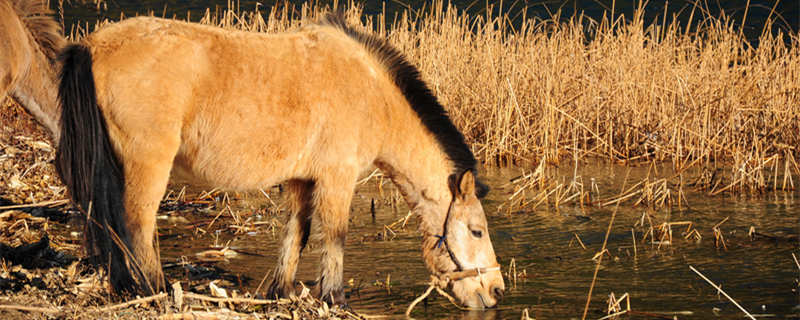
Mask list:
[{"label": "long black tail of the drinking tan horse", "polygon": [[108,266],[112,287],[122,292],[147,292],[149,282],[130,254],[125,225],[125,178],[97,105],[92,54],[73,44],[61,52],[58,95],[61,141],[56,170],[72,200],[87,215],[86,248],[93,262]]}]

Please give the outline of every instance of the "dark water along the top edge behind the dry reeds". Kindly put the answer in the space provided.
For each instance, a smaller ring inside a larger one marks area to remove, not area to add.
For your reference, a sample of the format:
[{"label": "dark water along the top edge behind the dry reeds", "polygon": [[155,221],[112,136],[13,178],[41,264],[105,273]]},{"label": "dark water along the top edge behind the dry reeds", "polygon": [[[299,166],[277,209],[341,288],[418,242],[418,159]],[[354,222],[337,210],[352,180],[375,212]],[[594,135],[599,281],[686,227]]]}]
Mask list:
[{"label": "dark water along the top edge behind the dry reeds", "polygon": [[[121,13],[126,16],[136,14],[154,14],[156,16],[176,17],[185,19],[190,13],[192,20],[199,19],[206,8],[214,11],[217,8],[228,8],[229,4],[242,11],[253,11],[258,7],[261,12],[268,12],[274,5],[285,5],[285,3],[299,5],[306,1],[188,1],[188,0],[101,0],[101,4],[95,1],[64,1],[64,24],[66,30],[71,30],[74,24],[93,25],[95,21],[102,19],[118,20]],[[330,4],[331,0],[316,1],[320,4]],[[339,1],[343,2],[343,1]],[[420,10],[423,7],[429,8],[429,1],[409,0],[409,1],[359,1],[364,4],[366,14],[387,13],[388,17],[394,17],[395,13],[400,13],[407,8]],[[692,25],[697,26],[707,16],[719,17],[721,15],[732,18],[737,26],[742,26],[744,22],[744,33],[747,38],[757,45],[757,38],[764,29],[764,23],[768,17],[776,21],[772,31],[778,30],[784,33],[797,31],[800,26],[800,8],[798,1],[776,1],[776,0],[727,0],[727,1],[699,1],[697,12],[692,16],[694,0],[672,0],[672,1],[644,1],[644,18],[647,25],[656,21],[663,23],[666,13],[667,22],[673,15],[685,26],[692,17]],[[58,1],[52,1],[52,6],[57,10]],[[556,12],[561,12],[561,16],[568,18],[576,13],[584,13],[594,20],[600,20],[603,15],[608,15],[613,9],[614,16],[624,15],[627,20],[633,17],[633,12],[638,8],[638,0],[616,1],[616,0],[517,0],[517,1],[478,1],[478,0],[451,0],[457,8],[466,10],[473,16],[485,15],[488,3],[493,4],[493,14],[508,14],[512,23],[518,25],[523,16],[528,18],[549,19]],[[748,10],[747,4],[750,4]],[[777,6],[776,6],[777,3]],[[773,7],[775,8],[773,12]],[[745,11],[747,11],[746,19]],[[524,13],[524,15],[523,15]],[[391,19],[387,19],[391,24]],[[788,43],[788,41],[787,41]]]}]

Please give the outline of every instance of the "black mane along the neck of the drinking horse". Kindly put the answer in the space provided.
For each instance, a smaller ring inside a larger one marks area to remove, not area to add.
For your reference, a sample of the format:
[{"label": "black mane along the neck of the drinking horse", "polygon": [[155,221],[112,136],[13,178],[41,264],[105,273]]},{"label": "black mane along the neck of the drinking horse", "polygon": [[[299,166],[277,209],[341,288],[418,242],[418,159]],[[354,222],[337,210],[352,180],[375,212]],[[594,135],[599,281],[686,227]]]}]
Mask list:
[{"label": "black mane along the neck of the drinking horse", "polygon": [[384,39],[349,27],[341,14],[328,14],[322,19],[322,24],[342,30],[383,63],[422,124],[436,137],[436,141],[453,162],[455,166],[453,174],[458,174],[460,177],[466,170],[477,172],[477,161],[464,141],[464,135],[453,125],[447,111],[428,85],[422,81],[417,67],[408,62],[400,51]]}]

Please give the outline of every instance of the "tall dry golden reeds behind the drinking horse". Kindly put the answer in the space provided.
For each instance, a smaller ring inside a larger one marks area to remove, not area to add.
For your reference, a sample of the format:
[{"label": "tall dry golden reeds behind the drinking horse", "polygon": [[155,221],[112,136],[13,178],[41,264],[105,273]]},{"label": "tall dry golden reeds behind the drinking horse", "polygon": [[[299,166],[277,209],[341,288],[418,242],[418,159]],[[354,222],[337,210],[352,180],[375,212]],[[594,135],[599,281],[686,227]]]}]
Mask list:
[{"label": "tall dry golden reeds behind the drinking horse", "polygon": [[[341,7],[351,24],[389,39],[419,67],[485,165],[540,171],[514,181],[517,190],[537,186],[523,192],[529,204],[613,204],[592,198],[591,177],[545,174],[598,159],[672,166],[674,174],[636,184],[623,199],[634,204],[680,206],[686,185],[708,195],[795,190],[800,38],[769,32],[771,20],[755,47],[724,16],[646,25],[638,10],[512,25],[508,15],[470,16],[443,1],[394,17]],[[208,10],[200,22],[282,32],[329,10]],[[705,12],[698,4],[690,14]]]}]

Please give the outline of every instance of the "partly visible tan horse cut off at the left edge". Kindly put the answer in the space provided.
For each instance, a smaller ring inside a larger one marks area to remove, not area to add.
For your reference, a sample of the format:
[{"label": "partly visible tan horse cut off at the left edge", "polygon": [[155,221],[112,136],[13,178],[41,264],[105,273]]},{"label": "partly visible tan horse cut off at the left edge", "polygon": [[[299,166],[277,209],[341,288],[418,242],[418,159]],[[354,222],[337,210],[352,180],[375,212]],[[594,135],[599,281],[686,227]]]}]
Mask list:
[{"label": "partly visible tan horse cut off at the left edge", "polygon": [[59,50],[66,44],[45,0],[0,0],[0,101],[11,96],[58,143]]}]

